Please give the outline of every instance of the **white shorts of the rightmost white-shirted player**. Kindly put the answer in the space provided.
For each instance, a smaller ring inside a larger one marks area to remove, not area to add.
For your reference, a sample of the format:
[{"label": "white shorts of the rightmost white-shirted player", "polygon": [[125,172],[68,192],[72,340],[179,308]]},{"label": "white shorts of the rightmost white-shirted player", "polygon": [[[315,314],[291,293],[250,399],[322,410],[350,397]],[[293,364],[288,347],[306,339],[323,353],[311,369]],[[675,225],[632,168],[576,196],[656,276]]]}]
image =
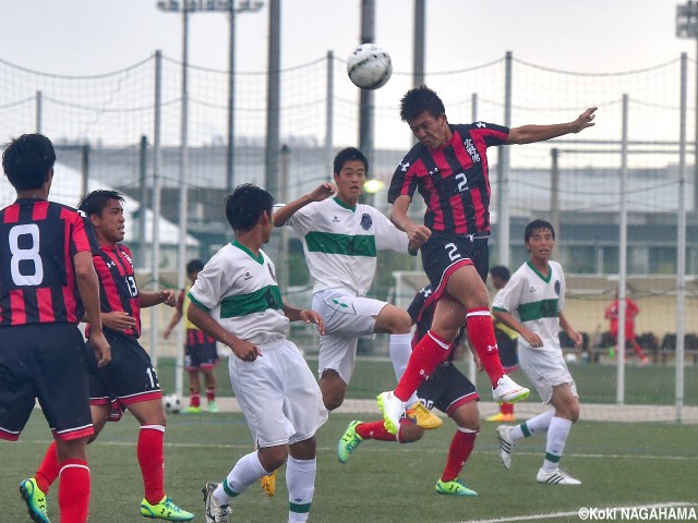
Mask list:
[{"label": "white shorts of the rightmost white-shirted player", "polygon": [[579,398],[562,351],[535,350],[519,343],[519,364],[544,404],[551,402],[556,385],[569,384],[571,393]]}]

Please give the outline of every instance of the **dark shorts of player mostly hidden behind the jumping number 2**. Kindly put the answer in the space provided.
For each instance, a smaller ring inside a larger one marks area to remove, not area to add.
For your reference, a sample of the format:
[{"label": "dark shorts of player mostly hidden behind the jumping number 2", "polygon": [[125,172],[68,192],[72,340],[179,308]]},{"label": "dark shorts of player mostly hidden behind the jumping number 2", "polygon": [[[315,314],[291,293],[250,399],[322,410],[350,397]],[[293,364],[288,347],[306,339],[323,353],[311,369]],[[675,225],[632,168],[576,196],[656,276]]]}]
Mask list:
[{"label": "dark shorts of player mostly hidden behind the jumping number 2", "polygon": [[452,363],[437,365],[417,389],[417,396],[430,411],[435,406],[448,415],[464,403],[480,400],[476,386]]}]

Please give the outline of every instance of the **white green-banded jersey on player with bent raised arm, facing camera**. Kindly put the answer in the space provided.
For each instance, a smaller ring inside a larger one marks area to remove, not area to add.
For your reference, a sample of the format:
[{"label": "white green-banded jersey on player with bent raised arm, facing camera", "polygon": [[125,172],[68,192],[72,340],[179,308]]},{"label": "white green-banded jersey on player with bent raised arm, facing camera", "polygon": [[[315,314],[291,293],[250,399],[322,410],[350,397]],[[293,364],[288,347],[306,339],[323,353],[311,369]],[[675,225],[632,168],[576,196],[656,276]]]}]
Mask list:
[{"label": "white green-banded jersey on player with bent raised arm, facing camera", "polygon": [[286,224],[303,243],[313,278],[313,292],[346,289],[363,296],[376,270],[376,252],[407,253],[407,233],[377,209],[358,204],[348,207],[338,198],[313,202],[297,210]]}]

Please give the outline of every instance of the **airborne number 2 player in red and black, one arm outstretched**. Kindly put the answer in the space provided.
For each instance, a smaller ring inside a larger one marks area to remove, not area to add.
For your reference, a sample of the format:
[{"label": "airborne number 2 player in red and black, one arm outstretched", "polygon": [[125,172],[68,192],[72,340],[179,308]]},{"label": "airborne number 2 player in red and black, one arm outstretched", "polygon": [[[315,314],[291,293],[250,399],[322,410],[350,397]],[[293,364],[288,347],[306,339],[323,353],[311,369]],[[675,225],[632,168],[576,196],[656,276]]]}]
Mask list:
[{"label": "airborne number 2 player in red and black, one arm outstretched", "polygon": [[490,235],[488,147],[578,133],[593,125],[595,110],[589,108],[569,123],[507,129],[484,122],[449,124],[443,101],[425,85],[408,90],[400,100],[400,118],[419,144],[393,174],[390,219],[407,233],[418,230],[421,226],[407,211],[419,191],[426,203],[424,224],[431,232],[421,248],[422,263],[437,304],[432,328],[414,348],[397,388],[378,396],[388,430],[397,431],[405,400],[446,358],[464,325],[490,377],[494,400],[512,403],[529,396],[502,368],[484,284]]}]

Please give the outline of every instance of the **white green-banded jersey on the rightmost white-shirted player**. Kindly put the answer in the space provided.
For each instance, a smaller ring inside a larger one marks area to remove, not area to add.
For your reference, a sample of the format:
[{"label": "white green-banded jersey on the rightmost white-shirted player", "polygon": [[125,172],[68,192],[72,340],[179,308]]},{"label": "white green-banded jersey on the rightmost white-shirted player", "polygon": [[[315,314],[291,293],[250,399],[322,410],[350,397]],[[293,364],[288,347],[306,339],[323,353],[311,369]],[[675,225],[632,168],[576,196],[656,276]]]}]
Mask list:
[{"label": "white green-banded jersey on the rightmost white-shirted player", "polygon": [[492,308],[510,313],[524,326],[535,332],[542,348],[531,345],[519,336],[519,344],[535,351],[561,351],[559,312],[565,305],[565,275],[557,262],[549,262],[550,271],[544,278],[529,262],[512,275],[512,278],[494,297]]}]

